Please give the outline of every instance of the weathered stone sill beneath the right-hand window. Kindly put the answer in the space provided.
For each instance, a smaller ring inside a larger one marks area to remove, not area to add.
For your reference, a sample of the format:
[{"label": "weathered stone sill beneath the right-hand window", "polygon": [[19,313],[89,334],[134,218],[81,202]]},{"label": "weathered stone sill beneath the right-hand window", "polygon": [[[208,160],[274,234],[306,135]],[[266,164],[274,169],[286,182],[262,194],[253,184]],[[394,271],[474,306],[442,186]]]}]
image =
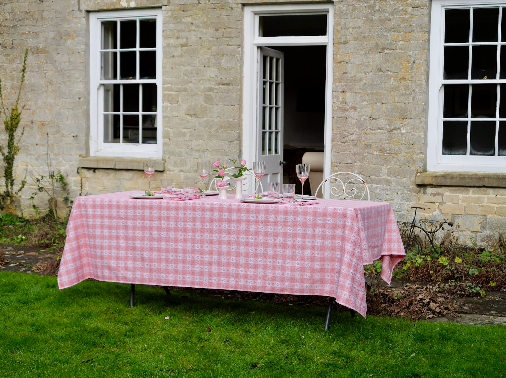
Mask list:
[{"label": "weathered stone sill beneath the right-hand window", "polygon": [[506,174],[469,172],[422,172],[416,175],[416,185],[488,186],[506,188]]}]

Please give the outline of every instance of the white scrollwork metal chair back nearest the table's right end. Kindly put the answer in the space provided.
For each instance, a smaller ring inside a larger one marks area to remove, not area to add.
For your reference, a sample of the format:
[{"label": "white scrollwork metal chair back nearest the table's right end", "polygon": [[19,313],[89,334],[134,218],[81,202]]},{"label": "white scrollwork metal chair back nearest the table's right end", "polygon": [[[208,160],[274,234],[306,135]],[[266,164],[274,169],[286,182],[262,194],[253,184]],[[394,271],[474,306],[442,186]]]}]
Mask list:
[{"label": "white scrollwork metal chair back nearest the table's right end", "polygon": [[[351,176],[351,179],[341,179],[339,176]],[[323,190],[326,182],[330,183],[330,194],[335,197],[342,197],[342,199],[355,199],[361,201],[367,194],[367,200],[370,200],[369,187],[365,183],[364,179],[352,172],[338,172],[328,176],[323,180],[318,188],[321,190],[322,197],[325,198],[325,192]],[[362,194],[360,196],[360,193]],[[357,195],[358,194],[358,195]],[[355,197],[356,196],[356,197]],[[360,197],[360,198],[359,198]]]}]

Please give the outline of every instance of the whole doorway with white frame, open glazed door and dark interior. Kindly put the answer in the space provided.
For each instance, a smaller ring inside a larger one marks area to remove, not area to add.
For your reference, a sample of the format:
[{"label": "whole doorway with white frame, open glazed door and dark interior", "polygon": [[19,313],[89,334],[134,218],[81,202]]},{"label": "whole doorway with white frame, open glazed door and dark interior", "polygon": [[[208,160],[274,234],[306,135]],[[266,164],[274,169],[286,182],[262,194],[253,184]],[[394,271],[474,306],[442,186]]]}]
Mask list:
[{"label": "whole doorway with white frame, open glazed door and dark interior", "polygon": [[304,153],[323,155],[322,174],[330,172],[333,6],[246,6],[244,12],[242,156],[267,161],[264,190],[278,181],[300,191],[295,167]]}]

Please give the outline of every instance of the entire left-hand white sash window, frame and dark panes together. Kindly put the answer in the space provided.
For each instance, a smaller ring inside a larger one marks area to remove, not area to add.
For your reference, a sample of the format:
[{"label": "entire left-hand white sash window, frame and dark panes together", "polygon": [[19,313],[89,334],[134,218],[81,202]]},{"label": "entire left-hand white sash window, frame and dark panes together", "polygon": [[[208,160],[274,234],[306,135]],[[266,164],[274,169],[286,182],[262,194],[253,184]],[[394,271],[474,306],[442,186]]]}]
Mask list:
[{"label": "entire left-hand white sash window, frame and dark panes together", "polygon": [[161,157],[161,9],[90,13],[90,154]]}]

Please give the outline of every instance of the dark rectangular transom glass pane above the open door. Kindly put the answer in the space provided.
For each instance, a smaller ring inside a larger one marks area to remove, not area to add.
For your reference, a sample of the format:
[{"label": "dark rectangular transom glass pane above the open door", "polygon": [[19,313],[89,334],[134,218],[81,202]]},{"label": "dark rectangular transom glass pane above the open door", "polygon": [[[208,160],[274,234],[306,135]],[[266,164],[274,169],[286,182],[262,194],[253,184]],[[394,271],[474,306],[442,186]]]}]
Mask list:
[{"label": "dark rectangular transom glass pane above the open door", "polygon": [[327,35],[327,15],[260,16],[259,35]]}]

